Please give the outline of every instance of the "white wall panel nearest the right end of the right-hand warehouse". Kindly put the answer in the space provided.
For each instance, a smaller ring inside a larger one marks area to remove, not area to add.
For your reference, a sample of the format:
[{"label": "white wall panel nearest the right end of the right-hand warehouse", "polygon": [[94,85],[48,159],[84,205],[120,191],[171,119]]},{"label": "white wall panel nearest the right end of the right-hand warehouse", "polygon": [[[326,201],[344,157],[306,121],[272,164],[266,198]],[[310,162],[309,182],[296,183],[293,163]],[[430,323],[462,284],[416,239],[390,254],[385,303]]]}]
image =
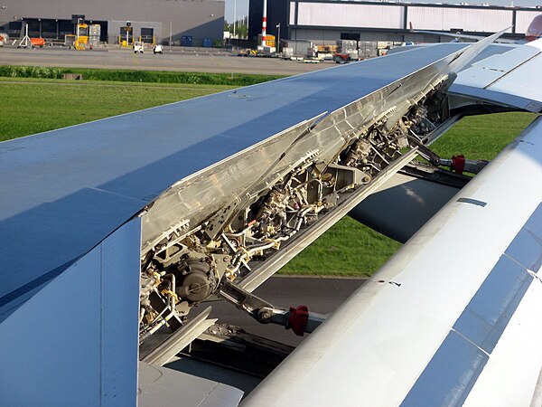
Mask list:
[{"label": "white wall panel nearest the right end of the right-hand warehouse", "polygon": [[416,30],[463,29],[469,32],[494,33],[512,25],[511,10],[410,6],[407,21]]}]

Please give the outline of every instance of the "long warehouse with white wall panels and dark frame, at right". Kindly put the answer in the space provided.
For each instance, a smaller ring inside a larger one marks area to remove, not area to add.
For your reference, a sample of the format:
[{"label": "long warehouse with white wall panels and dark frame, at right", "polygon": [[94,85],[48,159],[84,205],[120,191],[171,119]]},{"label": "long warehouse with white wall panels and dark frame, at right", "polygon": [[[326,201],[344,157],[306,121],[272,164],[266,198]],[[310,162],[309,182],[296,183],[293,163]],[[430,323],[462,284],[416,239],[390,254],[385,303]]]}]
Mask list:
[{"label": "long warehouse with white wall panels and dark frame, at right", "polygon": [[[250,0],[249,38],[261,33],[263,0]],[[267,2],[267,33],[281,38],[334,43],[336,40],[435,43],[449,37],[415,30],[488,34],[513,26],[505,36],[520,39],[542,9],[495,5],[443,5],[336,0]]]}]

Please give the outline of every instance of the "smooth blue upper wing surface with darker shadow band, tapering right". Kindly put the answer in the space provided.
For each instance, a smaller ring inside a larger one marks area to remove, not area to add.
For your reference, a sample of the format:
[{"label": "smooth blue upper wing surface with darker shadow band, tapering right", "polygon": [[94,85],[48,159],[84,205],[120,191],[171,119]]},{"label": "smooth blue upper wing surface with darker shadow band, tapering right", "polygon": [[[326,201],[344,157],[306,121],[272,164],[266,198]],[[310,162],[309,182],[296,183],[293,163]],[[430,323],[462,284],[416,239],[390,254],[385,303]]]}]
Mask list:
[{"label": "smooth blue upper wing surface with darker shadow band, tapering right", "polygon": [[[0,143],[0,307],[182,178],[452,52],[443,44]],[[56,270],[56,271],[55,271]]]}]

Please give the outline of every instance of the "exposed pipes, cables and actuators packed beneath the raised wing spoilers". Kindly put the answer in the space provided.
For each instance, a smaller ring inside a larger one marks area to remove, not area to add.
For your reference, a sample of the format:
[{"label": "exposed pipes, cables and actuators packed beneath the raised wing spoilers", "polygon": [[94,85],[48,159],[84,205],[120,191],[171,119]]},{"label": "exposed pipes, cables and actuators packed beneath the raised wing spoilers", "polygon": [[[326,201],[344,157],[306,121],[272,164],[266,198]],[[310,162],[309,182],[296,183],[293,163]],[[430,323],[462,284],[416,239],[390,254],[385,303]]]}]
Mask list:
[{"label": "exposed pipes, cables and actuators packed beneath the raised wing spoilers", "polygon": [[[441,121],[432,92],[397,116],[395,110],[350,131],[348,141],[322,158],[308,152],[273,185],[232,200],[195,227],[182,224],[142,260],[140,336],[179,327],[190,309],[210,298],[222,279],[244,279],[262,262],[354,191],[370,185],[404,150],[421,143]],[[398,119],[397,119],[398,118]],[[390,123],[390,120],[395,122]]]}]

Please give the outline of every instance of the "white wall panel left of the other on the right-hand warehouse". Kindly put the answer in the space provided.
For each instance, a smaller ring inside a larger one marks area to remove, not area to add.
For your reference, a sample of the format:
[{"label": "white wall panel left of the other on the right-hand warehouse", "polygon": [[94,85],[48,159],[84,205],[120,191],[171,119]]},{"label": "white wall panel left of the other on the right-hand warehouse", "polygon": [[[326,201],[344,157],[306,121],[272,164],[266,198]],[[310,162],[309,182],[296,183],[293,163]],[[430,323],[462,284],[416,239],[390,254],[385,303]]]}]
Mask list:
[{"label": "white wall panel left of the other on the right-hand warehouse", "polygon": [[402,5],[299,3],[297,24],[329,27],[397,28],[403,26]]}]

